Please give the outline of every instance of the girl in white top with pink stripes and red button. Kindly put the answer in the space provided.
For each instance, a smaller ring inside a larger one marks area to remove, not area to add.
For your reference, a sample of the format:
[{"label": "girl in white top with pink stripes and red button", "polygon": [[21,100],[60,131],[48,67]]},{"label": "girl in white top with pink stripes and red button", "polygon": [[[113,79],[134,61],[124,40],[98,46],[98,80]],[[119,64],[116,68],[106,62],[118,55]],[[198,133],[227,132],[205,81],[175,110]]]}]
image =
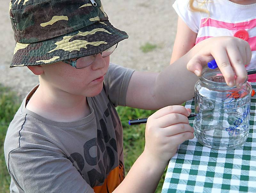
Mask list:
[{"label": "girl in white top with pink stripes and red button", "polygon": [[[204,39],[235,36],[252,49],[246,69],[256,68],[256,0],[176,0],[172,6],[179,19],[171,63]],[[256,82],[256,75],[248,81]]]}]

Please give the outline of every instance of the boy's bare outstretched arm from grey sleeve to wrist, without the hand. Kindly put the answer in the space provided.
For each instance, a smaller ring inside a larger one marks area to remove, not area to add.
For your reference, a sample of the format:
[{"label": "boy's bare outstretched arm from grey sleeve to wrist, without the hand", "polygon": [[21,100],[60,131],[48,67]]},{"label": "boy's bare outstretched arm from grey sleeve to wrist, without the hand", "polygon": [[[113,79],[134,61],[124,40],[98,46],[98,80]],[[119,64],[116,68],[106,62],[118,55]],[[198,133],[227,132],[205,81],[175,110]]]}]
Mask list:
[{"label": "boy's bare outstretched arm from grey sleeve to wrist, without the hand", "polygon": [[133,72],[126,106],[155,110],[193,98],[198,77],[187,70],[188,61],[188,57],[183,56],[160,73]]}]

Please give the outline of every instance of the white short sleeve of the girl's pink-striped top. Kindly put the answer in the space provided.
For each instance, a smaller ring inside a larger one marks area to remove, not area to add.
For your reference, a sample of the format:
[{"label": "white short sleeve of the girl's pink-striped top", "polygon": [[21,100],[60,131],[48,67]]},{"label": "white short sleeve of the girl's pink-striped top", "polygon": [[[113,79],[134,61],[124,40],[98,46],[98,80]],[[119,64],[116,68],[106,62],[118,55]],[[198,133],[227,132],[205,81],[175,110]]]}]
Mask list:
[{"label": "white short sleeve of the girl's pink-striped top", "polygon": [[187,26],[193,32],[198,33],[201,21],[200,12],[190,11],[188,6],[188,0],[176,0],[172,7],[177,12],[178,16],[187,24]]}]

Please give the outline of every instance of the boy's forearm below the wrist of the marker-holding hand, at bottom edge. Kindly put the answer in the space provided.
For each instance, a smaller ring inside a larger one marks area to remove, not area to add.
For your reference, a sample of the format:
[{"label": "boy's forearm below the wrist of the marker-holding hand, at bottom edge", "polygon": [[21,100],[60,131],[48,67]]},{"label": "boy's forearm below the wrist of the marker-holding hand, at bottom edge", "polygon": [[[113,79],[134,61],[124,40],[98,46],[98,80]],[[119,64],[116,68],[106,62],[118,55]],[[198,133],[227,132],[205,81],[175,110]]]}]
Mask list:
[{"label": "boy's forearm below the wrist of the marker-holding hand, at bottom edge", "polygon": [[167,164],[143,152],[113,193],[154,193]]}]

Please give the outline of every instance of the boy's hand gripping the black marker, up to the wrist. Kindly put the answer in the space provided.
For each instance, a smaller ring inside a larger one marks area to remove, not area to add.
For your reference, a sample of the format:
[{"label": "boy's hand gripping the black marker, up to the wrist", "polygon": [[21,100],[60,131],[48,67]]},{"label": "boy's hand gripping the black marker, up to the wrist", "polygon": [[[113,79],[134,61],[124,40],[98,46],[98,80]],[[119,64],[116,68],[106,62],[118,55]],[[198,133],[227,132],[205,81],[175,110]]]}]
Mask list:
[{"label": "boy's hand gripping the black marker, up to the wrist", "polygon": [[167,164],[177,146],[194,138],[194,129],[188,123],[191,110],[183,106],[168,106],[148,117],[145,131],[145,150],[151,161]]}]

